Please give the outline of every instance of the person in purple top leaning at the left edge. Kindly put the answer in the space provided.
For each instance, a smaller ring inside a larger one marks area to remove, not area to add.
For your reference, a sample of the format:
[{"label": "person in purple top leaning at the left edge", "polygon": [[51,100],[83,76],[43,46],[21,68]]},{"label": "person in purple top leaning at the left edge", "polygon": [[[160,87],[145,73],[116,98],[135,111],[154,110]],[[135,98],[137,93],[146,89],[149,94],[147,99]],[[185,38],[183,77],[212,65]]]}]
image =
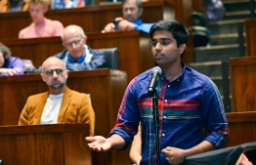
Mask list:
[{"label": "person in purple top leaning at the left edge", "polygon": [[12,52],[0,43],[0,76],[23,74],[23,65],[20,58],[12,57]]}]

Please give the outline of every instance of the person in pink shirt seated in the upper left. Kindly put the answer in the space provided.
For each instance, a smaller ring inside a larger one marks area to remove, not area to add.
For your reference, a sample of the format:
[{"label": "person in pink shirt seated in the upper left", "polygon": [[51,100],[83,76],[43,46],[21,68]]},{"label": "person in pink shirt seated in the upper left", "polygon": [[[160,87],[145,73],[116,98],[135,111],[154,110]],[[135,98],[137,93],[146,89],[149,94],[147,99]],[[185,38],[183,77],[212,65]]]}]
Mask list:
[{"label": "person in pink shirt seated in the upper left", "polygon": [[32,23],[21,29],[19,38],[38,38],[61,36],[64,25],[60,21],[51,21],[44,17],[48,11],[50,0],[29,0],[29,14]]}]

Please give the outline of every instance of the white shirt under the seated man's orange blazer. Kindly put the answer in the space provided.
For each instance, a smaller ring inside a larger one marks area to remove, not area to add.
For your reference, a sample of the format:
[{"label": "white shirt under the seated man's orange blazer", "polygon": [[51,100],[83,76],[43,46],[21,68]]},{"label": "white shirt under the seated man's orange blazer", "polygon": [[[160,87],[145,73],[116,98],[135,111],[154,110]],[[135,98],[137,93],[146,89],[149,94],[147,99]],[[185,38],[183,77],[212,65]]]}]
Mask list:
[{"label": "white shirt under the seated man's orange blazer", "polygon": [[57,124],[64,94],[49,95],[44,105],[39,124]]}]

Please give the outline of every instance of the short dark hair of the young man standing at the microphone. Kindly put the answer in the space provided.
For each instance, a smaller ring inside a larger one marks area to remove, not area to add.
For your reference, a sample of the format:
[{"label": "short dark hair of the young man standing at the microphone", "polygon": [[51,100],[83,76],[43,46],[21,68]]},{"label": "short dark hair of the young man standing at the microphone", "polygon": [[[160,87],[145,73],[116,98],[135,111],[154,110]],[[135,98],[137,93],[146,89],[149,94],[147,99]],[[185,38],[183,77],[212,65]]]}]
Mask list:
[{"label": "short dark hair of the young man standing at the microphone", "polygon": [[189,31],[180,21],[165,20],[165,21],[156,22],[151,26],[149,30],[150,38],[152,39],[152,35],[154,31],[162,31],[162,30],[166,30],[172,33],[173,38],[177,42],[178,48],[182,44],[187,45],[188,39],[189,39]]}]

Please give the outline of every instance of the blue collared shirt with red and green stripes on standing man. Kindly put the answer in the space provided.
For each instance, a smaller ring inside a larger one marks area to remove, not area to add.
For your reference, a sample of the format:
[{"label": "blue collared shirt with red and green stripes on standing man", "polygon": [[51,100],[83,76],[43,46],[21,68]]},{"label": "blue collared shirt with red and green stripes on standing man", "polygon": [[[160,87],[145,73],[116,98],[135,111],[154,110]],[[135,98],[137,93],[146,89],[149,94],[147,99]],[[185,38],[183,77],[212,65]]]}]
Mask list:
[{"label": "blue collared shirt with red and green stripes on standing man", "polygon": [[[167,146],[188,149],[210,142],[216,148],[227,143],[229,137],[221,95],[209,77],[182,62],[183,72],[172,82],[161,74],[157,84],[160,150]],[[133,141],[142,123],[141,165],[156,164],[155,128],[152,99],[148,96],[151,69],[133,79],[123,97],[112,134],[126,142]],[[203,128],[208,132],[203,138]],[[161,165],[167,165],[166,155],[160,152]]]}]

